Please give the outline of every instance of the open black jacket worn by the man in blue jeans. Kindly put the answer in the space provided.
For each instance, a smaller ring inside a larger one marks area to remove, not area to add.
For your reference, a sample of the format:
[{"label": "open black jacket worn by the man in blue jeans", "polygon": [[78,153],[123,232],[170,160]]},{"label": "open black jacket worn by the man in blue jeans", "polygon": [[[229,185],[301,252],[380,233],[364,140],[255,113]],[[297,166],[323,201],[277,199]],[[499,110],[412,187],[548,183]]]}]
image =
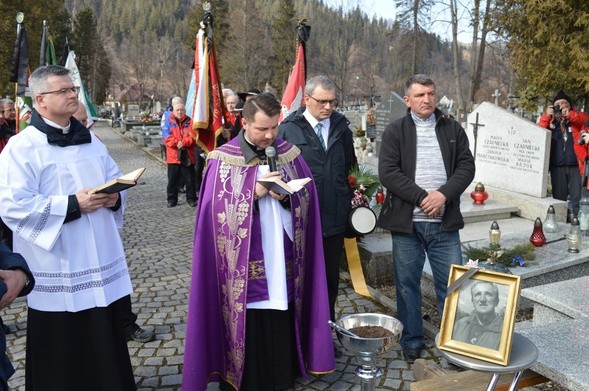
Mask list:
[{"label": "open black jacket worn by the man in blue jeans", "polygon": [[[415,123],[408,112],[391,123],[382,135],[378,159],[380,183],[387,189],[386,201],[378,226],[393,232],[413,232],[413,209],[421,205],[427,191],[415,183],[417,136]],[[446,196],[442,231],[464,227],[460,213],[460,196],[474,178],[475,164],[462,126],[436,110],[436,136],[440,145],[447,182],[438,191]]]}]

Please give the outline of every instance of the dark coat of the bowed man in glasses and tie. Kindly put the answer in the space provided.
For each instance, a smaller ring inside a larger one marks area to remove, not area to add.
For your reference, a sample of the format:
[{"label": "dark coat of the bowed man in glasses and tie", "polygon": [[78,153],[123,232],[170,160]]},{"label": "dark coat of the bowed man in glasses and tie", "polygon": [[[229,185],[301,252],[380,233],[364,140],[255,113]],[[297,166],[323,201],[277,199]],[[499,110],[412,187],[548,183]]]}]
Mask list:
[{"label": "dark coat of the bowed man in glasses and tie", "polygon": [[324,150],[315,131],[303,116],[305,108],[289,115],[278,127],[278,136],[299,147],[303,158],[313,173],[319,196],[323,236],[333,236],[346,231],[352,188],[348,173],[356,164],[350,121],[333,112],[327,150]]}]

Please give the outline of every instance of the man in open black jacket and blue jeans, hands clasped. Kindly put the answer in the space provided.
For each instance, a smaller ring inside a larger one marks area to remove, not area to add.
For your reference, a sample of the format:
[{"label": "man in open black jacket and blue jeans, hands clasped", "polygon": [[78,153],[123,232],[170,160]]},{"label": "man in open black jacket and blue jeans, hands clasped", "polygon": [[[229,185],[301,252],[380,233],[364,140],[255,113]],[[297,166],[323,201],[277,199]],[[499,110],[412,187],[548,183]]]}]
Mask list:
[{"label": "man in open black jacket and blue jeans, hands clasped", "polygon": [[387,197],[378,226],[391,231],[397,316],[404,325],[401,346],[405,360],[413,362],[423,348],[425,256],[441,316],[450,265],[462,264],[460,195],[472,182],[475,165],[464,129],[436,109],[436,86],[429,76],[411,76],[403,99],[407,115],[382,135],[378,173]]}]

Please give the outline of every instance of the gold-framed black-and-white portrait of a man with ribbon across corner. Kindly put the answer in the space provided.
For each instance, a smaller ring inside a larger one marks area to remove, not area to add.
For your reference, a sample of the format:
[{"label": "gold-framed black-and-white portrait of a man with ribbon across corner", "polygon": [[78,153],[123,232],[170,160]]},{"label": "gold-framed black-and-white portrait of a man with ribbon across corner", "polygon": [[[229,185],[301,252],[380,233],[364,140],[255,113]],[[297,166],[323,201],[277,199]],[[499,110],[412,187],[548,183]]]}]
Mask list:
[{"label": "gold-framed black-and-white portrait of a man with ribbon across corner", "polygon": [[[452,265],[448,286],[470,270]],[[509,363],[520,276],[476,269],[446,297],[438,348],[499,365]]]}]

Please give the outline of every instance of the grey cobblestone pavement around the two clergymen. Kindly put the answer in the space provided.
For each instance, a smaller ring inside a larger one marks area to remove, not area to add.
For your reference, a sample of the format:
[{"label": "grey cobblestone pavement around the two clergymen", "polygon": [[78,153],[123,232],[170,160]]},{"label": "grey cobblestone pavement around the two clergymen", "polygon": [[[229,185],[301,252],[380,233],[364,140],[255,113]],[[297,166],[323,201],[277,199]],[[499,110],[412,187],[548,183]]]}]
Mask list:
[{"label": "grey cobblestone pavement around the two clergymen", "polygon": [[[157,155],[148,153],[103,122],[96,123],[93,130],[123,173],[146,167],[139,185],[127,191],[125,226],[121,230],[134,286],[132,301],[137,323],[154,329],[157,335],[149,343],[128,343],[138,389],[181,390],[195,208],[186,204],[183,194],[177,207],[166,207],[166,166],[159,159],[159,151]],[[337,311],[340,316],[361,312],[394,316],[389,308],[357,295],[346,280],[342,280]],[[14,330],[7,336],[8,354],[16,369],[10,389],[24,391],[26,299],[17,299],[0,314]],[[431,340],[426,341],[422,357],[439,361]],[[354,372],[355,357],[344,351],[336,361],[335,372],[311,376],[308,381],[299,379],[296,390],[360,390]],[[413,371],[402,359],[398,346],[377,363],[383,371],[378,390],[409,390]],[[214,389],[217,387],[209,387]]]}]

